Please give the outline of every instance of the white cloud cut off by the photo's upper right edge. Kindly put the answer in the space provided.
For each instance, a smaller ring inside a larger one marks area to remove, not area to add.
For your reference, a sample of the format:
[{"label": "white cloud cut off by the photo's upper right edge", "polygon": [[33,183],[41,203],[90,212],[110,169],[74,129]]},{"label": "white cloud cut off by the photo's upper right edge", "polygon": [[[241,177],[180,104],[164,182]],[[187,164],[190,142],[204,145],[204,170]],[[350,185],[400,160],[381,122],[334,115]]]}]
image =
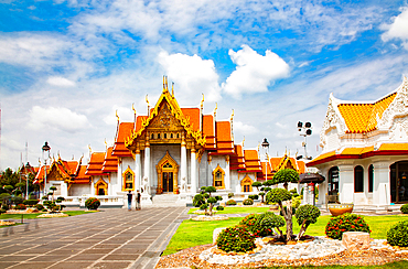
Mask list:
[{"label": "white cloud cut off by the photo's upper right edge", "polygon": [[387,42],[394,39],[402,41],[402,45],[408,50],[408,8],[402,8],[401,13],[393,18],[391,24],[383,24],[382,29],[387,30],[383,35],[383,41]]}]

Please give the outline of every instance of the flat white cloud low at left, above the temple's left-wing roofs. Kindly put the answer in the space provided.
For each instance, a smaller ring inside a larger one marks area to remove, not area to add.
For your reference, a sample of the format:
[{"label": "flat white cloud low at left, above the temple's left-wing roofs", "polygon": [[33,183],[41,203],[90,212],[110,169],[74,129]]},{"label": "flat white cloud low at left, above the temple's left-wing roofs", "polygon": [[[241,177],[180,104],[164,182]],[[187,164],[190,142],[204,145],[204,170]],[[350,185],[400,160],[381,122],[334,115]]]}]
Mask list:
[{"label": "flat white cloud low at left, above the temple's left-wing roofs", "polygon": [[30,111],[30,128],[37,130],[53,128],[66,132],[76,132],[89,127],[85,115],[79,115],[62,107],[42,108],[34,106]]}]

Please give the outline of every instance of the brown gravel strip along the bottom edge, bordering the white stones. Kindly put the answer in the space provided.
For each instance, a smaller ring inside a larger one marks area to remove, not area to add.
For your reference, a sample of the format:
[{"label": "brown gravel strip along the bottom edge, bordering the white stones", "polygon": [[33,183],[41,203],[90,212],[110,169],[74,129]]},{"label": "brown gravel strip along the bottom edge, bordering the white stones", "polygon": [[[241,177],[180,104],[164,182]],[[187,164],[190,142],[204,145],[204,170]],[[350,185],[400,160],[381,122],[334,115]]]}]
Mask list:
[{"label": "brown gravel strip along the bottom edge, bordering the white stones", "polygon": [[211,251],[214,245],[203,245],[193,248],[181,250],[176,254],[161,257],[155,268],[191,268],[195,266],[200,269],[226,269],[226,268],[257,268],[266,266],[325,266],[325,265],[354,265],[354,266],[378,266],[393,261],[408,260],[408,250],[393,248],[377,241],[372,244],[368,250],[350,251],[343,250],[333,255],[328,255],[320,258],[307,259],[264,259],[261,261],[236,263],[236,265],[219,265],[211,263],[200,258],[200,255],[205,251]]}]

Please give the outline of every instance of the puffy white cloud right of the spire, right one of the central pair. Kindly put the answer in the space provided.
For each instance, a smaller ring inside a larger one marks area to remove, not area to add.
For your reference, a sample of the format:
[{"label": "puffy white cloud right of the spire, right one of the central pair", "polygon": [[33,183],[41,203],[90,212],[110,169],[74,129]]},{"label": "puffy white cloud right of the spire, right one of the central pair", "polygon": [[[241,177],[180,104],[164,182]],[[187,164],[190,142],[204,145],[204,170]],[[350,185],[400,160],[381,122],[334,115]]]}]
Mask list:
[{"label": "puffy white cloud right of the spire, right one of the central pair", "polygon": [[225,93],[240,98],[243,94],[267,92],[273,80],[289,75],[289,65],[276,53],[268,50],[262,56],[248,45],[241,47],[228,52],[237,67],[222,85]]}]

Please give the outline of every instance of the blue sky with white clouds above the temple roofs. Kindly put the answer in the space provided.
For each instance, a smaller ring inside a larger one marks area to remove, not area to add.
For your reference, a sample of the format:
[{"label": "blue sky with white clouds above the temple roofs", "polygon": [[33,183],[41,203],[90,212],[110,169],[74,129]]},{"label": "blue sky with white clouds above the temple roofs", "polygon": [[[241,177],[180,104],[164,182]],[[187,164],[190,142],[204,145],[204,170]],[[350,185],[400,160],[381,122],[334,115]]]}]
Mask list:
[{"label": "blue sky with white clouds above the temple roofs", "polygon": [[234,109],[235,142],[315,157],[329,95],[373,101],[408,75],[407,1],[0,0],[0,169],[21,154],[88,157],[114,142],[115,111],[155,104],[162,76],[182,107]]}]

